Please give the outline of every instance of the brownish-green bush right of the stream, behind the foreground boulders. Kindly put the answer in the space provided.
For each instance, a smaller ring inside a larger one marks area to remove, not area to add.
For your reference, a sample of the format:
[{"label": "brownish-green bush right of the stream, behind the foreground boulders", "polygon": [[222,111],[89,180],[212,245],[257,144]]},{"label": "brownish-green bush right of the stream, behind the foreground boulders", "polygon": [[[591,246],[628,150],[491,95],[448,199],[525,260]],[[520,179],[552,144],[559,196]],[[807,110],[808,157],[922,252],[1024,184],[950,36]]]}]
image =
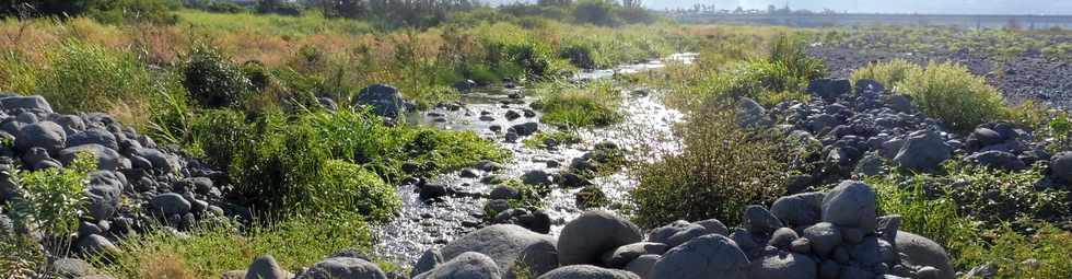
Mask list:
[{"label": "brownish-green bush right of the stream, behind the foreground boulders", "polygon": [[734,109],[719,105],[689,117],[679,153],[638,167],[640,185],[631,196],[639,224],[710,218],[737,223],[744,207],[769,205],[785,194],[801,160],[782,135],[741,129]]}]

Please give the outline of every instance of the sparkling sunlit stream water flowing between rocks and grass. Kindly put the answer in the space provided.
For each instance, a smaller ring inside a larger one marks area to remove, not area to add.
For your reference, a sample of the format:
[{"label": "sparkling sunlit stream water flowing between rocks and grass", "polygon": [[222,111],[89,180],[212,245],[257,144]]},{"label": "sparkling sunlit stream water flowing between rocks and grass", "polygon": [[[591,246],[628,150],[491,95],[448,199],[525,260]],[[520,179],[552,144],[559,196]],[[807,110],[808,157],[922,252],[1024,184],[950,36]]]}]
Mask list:
[{"label": "sparkling sunlit stream water flowing between rocks and grass", "polygon": [[[690,63],[696,57],[696,54],[677,54],[664,60]],[[652,60],[616,69],[581,72],[573,79],[576,81],[607,79],[615,73],[645,72],[663,67],[665,67],[663,61]],[[626,150],[650,146],[652,142],[662,144],[661,150],[673,150],[676,147],[677,142],[671,136],[671,127],[681,119],[680,113],[662,105],[655,97],[657,94],[643,89],[629,89],[620,95],[622,97],[620,109],[626,115],[624,121],[610,127],[582,130],[580,133],[584,139],[583,143],[560,146],[549,150],[526,147],[522,143],[524,138],[516,142],[504,140],[504,131],[509,127],[524,123],[539,123],[539,112],[528,108],[534,98],[526,94],[525,89],[478,90],[464,94],[461,106],[441,106],[420,114],[411,114],[408,121],[446,130],[474,131],[498,142],[513,155],[509,162],[502,164],[501,171],[494,172],[502,177],[520,177],[533,170],[557,173],[561,167],[568,167],[574,158],[591,151],[595,143],[604,141],[615,142]],[[508,120],[504,115],[509,111],[522,115],[528,111],[529,114],[527,117]],[[501,131],[492,131],[492,126],[501,127]],[[555,127],[539,124],[539,130],[551,131]],[[630,160],[652,160],[652,158],[630,158]],[[487,174],[481,173],[480,176],[482,175]],[[483,205],[493,185],[481,183],[480,178],[463,177],[459,172],[440,175],[431,183],[446,185],[452,189],[453,195],[443,197],[442,201],[426,202],[418,198],[415,186],[399,186],[398,196],[404,204],[399,216],[391,223],[374,229],[378,241],[376,252],[380,255],[408,266],[426,249],[446,244],[481,225]],[[637,181],[625,170],[598,177],[592,183],[601,187],[610,200],[621,204],[630,204],[628,191],[637,185]],[[574,199],[574,195],[580,189],[552,188],[554,190],[544,199],[546,205],[544,210],[551,218],[550,233],[558,234],[568,220],[582,212],[576,208]]]}]

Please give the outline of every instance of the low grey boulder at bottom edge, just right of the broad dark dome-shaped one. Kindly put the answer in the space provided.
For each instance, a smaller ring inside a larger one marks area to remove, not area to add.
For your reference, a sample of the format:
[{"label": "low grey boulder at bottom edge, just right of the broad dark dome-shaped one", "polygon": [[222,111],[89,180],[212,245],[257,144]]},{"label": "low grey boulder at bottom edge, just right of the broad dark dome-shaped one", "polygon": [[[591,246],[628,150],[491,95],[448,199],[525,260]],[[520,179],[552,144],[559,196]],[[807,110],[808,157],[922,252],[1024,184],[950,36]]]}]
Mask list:
[{"label": "low grey boulder at bottom edge, just right of the broad dark dome-shaped one", "polygon": [[796,253],[766,255],[751,263],[749,279],[816,279],[818,264],[812,257]]}]

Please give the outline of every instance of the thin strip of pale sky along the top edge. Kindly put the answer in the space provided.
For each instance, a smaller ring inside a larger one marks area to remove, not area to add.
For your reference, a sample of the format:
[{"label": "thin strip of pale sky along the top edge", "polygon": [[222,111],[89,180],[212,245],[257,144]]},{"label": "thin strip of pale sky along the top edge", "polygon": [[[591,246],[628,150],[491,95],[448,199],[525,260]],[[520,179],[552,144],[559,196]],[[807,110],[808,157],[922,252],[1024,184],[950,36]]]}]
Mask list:
[{"label": "thin strip of pale sky along the top edge", "polygon": [[[514,2],[518,0],[491,0]],[[719,9],[766,10],[788,2],[793,9],[863,13],[953,13],[953,14],[1072,14],[1072,0],[642,0],[655,10],[690,8],[714,3]]]}]

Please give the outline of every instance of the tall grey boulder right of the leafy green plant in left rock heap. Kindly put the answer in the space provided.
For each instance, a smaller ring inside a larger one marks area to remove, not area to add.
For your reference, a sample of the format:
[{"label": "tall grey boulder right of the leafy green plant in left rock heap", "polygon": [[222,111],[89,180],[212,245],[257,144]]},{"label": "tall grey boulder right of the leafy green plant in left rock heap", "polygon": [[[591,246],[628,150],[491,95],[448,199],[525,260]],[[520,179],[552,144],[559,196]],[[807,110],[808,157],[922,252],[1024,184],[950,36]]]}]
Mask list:
[{"label": "tall grey boulder right of the leafy green plant in left rock heap", "polygon": [[114,172],[96,171],[89,174],[85,197],[86,209],[94,220],[108,220],[119,208],[123,182]]}]

